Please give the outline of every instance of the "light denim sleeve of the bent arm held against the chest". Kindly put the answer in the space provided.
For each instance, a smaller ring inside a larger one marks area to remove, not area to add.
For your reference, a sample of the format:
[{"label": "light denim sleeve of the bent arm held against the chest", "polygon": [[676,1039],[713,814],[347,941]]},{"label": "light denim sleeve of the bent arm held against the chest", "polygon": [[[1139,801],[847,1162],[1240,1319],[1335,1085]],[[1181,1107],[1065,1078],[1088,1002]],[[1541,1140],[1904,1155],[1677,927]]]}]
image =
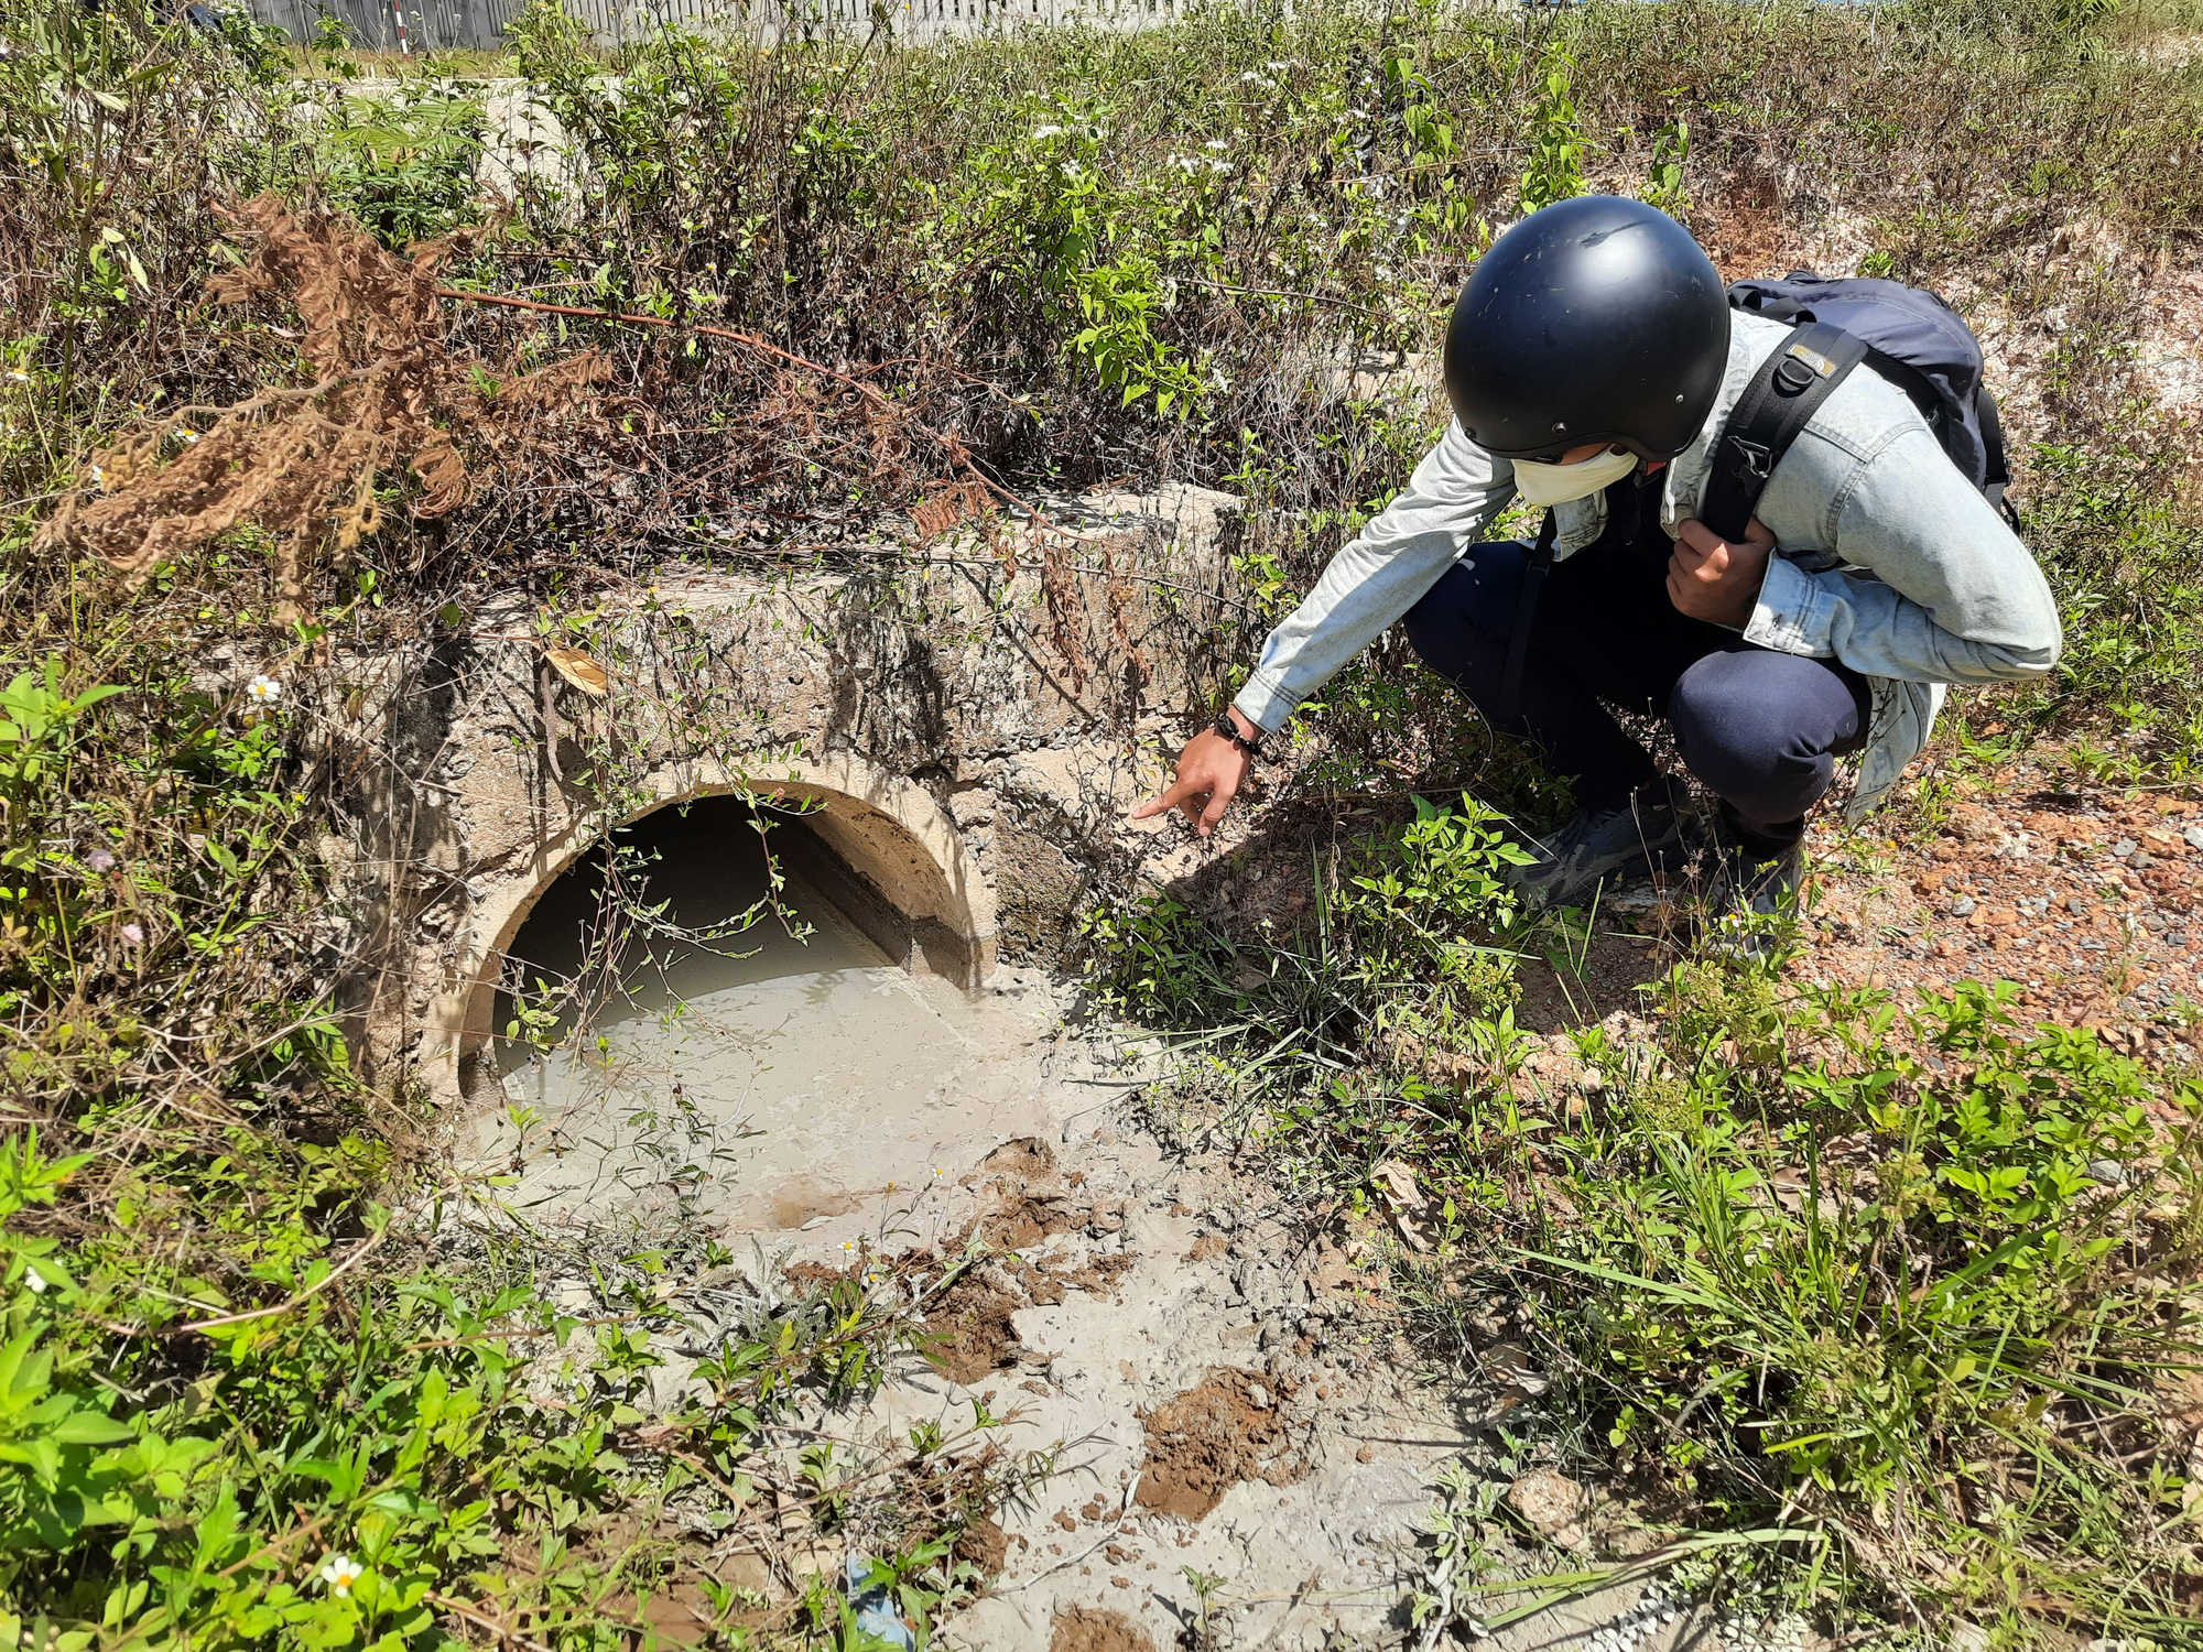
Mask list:
[{"label": "light denim sleeve of the bent arm held against the chest", "polygon": [[1875,577],[1771,557],[1745,641],[1910,683],[1998,683],[2058,663],[2049,582],[1925,430],[1862,467],[1831,540]]}]

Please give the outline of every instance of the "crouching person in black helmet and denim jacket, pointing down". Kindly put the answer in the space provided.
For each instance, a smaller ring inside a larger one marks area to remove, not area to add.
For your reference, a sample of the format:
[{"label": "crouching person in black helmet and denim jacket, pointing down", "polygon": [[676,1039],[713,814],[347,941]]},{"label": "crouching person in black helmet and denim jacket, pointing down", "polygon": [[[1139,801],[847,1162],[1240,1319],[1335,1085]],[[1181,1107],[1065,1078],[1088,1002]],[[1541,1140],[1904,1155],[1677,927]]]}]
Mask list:
[{"label": "crouching person in black helmet and denim jacket, pointing down", "polygon": [[[1445,438],[1135,817],[1183,808],[1214,830],[1262,738],[1403,621],[1573,782],[1575,815],[1516,872],[1527,905],[1584,905],[1604,879],[1681,861],[1679,797],[1619,707],[1665,718],[1721,800],[1721,910],[1782,910],[1837,758],[1859,756],[1857,819],[1947,685],[2040,676],[2060,650],[1980,454],[1961,471],[1945,445],[1963,443],[1862,366],[1862,339],[1804,319],[1732,311],[1690,233],[1635,200],[1564,200],[1509,229],[1454,306]],[[1516,498],[1547,507],[1538,540],[1483,544]]]}]

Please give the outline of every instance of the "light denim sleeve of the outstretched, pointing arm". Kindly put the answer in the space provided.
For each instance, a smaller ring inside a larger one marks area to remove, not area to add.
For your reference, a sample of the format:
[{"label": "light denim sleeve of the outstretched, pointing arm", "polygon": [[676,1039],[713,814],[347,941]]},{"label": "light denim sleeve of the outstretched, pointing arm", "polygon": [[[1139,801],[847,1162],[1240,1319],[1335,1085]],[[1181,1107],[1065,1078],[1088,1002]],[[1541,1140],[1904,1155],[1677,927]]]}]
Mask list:
[{"label": "light denim sleeve of the outstretched, pointing arm", "polygon": [[1234,709],[1258,729],[1282,727],[1414,608],[1511,498],[1513,465],[1447,425],[1408,487],[1331,557],[1315,590],[1269,634]]}]

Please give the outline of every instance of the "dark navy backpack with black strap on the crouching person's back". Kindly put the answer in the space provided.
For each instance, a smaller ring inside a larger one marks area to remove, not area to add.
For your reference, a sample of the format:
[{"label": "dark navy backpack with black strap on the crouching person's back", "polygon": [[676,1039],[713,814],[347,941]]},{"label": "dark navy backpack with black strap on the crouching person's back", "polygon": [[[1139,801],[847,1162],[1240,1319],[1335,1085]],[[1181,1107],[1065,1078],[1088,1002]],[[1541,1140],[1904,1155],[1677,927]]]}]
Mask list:
[{"label": "dark navy backpack with black strap on the crouching person's back", "polygon": [[1996,396],[1983,383],[1980,339],[1923,286],[1824,280],[1791,271],[1780,282],[1736,282],[1729,306],[1798,335],[1745,385],[1714,445],[1699,520],[1725,540],[1743,535],[1782,454],[1813,412],[1864,361],[1906,392],[1967,482],[2018,526],[2005,500],[2011,471]]}]

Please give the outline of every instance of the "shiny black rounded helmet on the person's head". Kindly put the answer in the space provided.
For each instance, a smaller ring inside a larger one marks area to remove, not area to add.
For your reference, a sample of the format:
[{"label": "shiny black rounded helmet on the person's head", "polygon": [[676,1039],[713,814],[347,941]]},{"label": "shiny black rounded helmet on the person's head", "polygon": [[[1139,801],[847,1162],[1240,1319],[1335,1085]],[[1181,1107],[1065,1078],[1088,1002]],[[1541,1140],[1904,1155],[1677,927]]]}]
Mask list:
[{"label": "shiny black rounded helmet on the person's head", "polygon": [[1626,196],[1555,200],[1485,253],[1445,328],[1445,394],[1502,458],[1621,443],[1674,458],[1729,366],[1729,297],[1674,218]]}]

